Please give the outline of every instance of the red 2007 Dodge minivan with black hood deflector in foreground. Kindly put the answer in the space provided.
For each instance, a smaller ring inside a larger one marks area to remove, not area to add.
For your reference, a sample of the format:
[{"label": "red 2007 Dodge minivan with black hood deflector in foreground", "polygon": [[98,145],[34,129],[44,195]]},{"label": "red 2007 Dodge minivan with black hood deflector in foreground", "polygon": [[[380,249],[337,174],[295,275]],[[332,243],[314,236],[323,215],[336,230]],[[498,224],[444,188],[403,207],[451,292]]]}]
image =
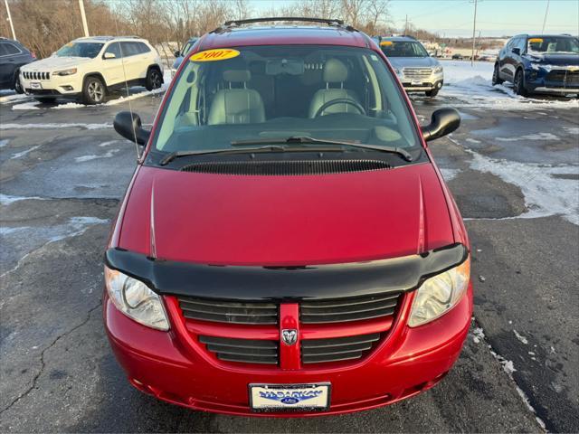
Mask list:
[{"label": "red 2007 Dodge minivan with black hood deflector in foreground", "polygon": [[[265,21],[275,21],[266,19]],[[284,18],[282,20],[288,20]],[[183,61],[105,258],[104,322],[138,390],[311,416],[441,381],[470,325],[470,246],[379,47],[338,20],[226,23]]]}]

